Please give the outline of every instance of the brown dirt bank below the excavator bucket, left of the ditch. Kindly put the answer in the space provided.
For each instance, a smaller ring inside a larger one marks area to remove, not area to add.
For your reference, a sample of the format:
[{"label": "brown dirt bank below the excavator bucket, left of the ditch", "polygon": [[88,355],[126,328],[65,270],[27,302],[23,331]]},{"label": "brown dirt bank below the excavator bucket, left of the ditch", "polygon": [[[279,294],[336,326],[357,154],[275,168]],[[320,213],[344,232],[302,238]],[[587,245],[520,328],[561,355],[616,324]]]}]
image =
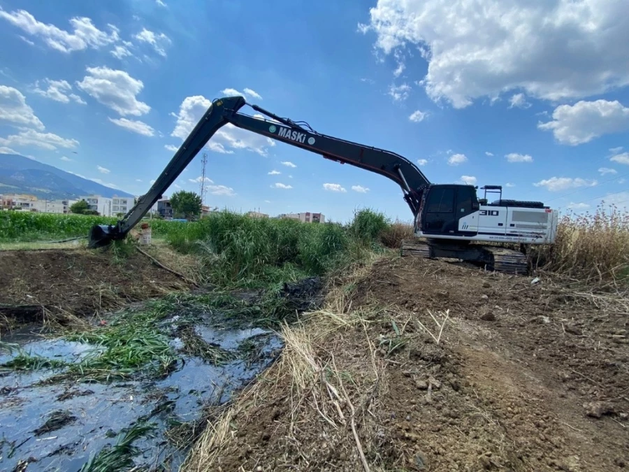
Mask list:
[{"label": "brown dirt bank below the excavator bucket, left of the ditch", "polygon": [[8,322],[41,321],[43,310],[89,317],[184,287],[136,252],[2,251],[0,268],[0,315]]}]

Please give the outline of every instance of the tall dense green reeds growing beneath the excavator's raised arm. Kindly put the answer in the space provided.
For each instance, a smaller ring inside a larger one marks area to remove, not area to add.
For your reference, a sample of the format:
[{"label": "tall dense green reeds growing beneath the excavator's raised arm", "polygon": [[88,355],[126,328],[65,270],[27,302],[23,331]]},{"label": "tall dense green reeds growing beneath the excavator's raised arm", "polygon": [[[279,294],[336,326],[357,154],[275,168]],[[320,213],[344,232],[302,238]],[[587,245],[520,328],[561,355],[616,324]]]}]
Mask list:
[{"label": "tall dense green reeds growing beneath the excavator's raised arm", "polygon": [[175,250],[201,259],[208,279],[222,287],[268,287],[305,276],[322,276],[380,249],[389,221],[372,210],[356,212],[347,225],[212,213],[198,222],[170,227]]}]

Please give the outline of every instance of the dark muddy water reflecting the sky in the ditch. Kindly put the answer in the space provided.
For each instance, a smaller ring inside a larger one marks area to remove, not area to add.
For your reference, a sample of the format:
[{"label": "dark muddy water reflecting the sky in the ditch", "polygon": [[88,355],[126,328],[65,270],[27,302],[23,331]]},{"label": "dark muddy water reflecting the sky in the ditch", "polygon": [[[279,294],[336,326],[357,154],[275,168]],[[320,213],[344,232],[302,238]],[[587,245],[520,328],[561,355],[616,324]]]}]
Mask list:
[{"label": "dark muddy water reflecting the sky in the ditch", "polygon": [[[173,317],[165,324],[175,323]],[[282,348],[280,338],[256,327],[224,330],[198,324],[194,331],[205,343],[233,354],[233,360],[212,365],[183,354],[184,342],[173,329],[171,345],[179,352],[178,362],[158,379],[41,385],[59,369],[0,371],[0,470],[89,470],[91,457],[142,422],[153,427],[133,441],[135,465],[178,470],[191,441],[185,431],[203,419],[204,408],[229,400]],[[30,355],[64,362],[78,362],[94,349],[83,343],[46,339],[32,329],[15,331],[2,341],[20,345]],[[255,356],[243,354],[252,349]],[[2,349],[0,364],[13,357],[15,352]],[[187,425],[181,426],[184,423]],[[27,468],[20,469],[25,462]]]}]

